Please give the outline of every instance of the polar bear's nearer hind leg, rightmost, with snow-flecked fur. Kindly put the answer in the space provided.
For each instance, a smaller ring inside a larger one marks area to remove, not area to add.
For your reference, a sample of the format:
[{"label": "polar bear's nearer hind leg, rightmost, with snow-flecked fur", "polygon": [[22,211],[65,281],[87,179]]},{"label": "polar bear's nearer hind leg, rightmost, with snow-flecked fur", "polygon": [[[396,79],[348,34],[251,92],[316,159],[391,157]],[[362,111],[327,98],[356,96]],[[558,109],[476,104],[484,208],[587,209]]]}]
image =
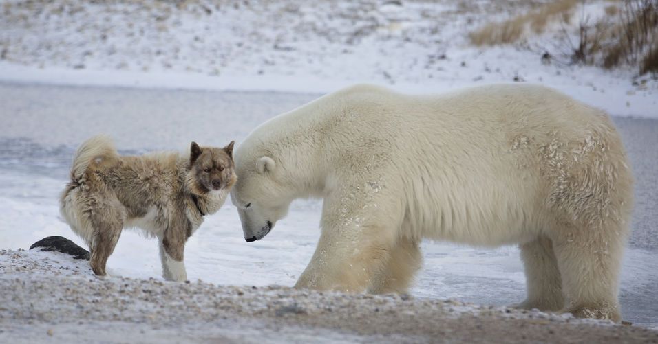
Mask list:
[{"label": "polar bear's nearer hind leg, rightmost, with snow-flecked fur", "polygon": [[[621,140],[609,125],[570,142],[557,170],[549,204],[555,214],[549,233],[562,288],[564,311],[577,317],[620,320],[619,271],[628,237],[633,176]],[[562,178],[564,177],[564,178]]]}]

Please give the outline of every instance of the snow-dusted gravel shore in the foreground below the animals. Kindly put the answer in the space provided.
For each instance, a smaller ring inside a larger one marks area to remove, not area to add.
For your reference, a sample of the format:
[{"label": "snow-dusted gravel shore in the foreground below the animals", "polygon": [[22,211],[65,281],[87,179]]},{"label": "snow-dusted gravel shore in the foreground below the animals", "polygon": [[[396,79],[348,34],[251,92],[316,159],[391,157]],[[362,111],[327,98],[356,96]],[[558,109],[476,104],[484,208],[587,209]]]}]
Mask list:
[{"label": "snow-dusted gravel shore in the foreground below the animals", "polygon": [[655,343],[658,331],[454,300],[98,278],[0,250],[6,343]]}]

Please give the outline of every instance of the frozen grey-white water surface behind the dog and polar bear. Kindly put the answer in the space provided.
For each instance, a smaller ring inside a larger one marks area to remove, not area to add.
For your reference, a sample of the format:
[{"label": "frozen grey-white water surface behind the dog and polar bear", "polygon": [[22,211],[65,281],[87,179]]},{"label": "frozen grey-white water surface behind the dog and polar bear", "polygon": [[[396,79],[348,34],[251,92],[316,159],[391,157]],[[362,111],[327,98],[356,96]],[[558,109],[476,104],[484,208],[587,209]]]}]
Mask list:
[{"label": "frozen grey-white water surface behind the dog and polar bear", "polygon": [[[0,84],[0,249],[27,249],[52,235],[82,244],[59,220],[57,197],[74,148],[90,135],[116,137],[124,153],[187,148],[191,140],[222,145],[235,139],[239,144],[265,119],[315,97]],[[658,121],[614,119],[637,179],[633,236],[622,271],[622,313],[635,325],[658,328]],[[189,240],[189,278],[221,286],[292,286],[319,238],[320,207],[315,200],[293,203],[274,233],[247,244],[237,211],[227,203]],[[156,246],[153,240],[125,231],[109,259],[110,273],[160,280]],[[425,242],[423,253],[425,264],[412,290],[414,297],[495,306],[524,297],[516,247],[492,250]],[[41,254],[26,259],[47,256]],[[0,261],[3,264],[6,260]]]}]

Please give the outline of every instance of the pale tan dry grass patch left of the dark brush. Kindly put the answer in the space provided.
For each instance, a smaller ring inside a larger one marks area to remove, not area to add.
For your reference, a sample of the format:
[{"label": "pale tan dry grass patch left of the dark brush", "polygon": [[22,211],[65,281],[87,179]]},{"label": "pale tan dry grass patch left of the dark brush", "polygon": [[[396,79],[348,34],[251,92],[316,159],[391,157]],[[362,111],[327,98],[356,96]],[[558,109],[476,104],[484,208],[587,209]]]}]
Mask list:
[{"label": "pale tan dry grass patch left of the dark brush", "polygon": [[578,0],[558,0],[502,23],[489,23],[480,30],[469,34],[471,43],[475,45],[509,44],[519,41],[529,30],[535,34],[541,34],[549,21],[569,21],[571,10],[578,3]]}]

